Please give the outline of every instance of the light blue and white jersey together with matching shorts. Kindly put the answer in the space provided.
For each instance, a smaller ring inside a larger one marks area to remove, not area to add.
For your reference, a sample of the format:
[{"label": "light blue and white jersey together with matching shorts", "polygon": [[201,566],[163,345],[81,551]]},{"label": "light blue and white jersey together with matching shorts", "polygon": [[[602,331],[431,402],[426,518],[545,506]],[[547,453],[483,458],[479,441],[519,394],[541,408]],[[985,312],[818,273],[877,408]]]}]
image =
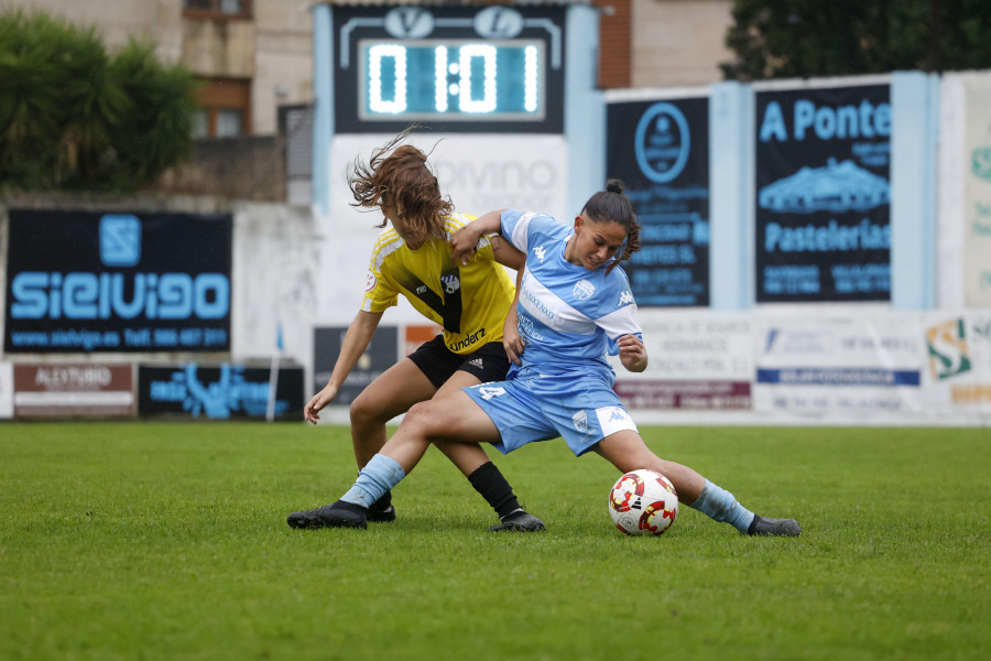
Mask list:
[{"label": "light blue and white jersey together with matching shorts", "polygon": [[520,289],[523,365],[509,380],[462,390],[496,423],[502,453],[562,436],[575,455],[636,425],[612,384],[607,351],[623,335],[642,337],[622,269],[589,271],[564,257],[571,228],[544,214],[502,213],[502,236],[526,253]]}]

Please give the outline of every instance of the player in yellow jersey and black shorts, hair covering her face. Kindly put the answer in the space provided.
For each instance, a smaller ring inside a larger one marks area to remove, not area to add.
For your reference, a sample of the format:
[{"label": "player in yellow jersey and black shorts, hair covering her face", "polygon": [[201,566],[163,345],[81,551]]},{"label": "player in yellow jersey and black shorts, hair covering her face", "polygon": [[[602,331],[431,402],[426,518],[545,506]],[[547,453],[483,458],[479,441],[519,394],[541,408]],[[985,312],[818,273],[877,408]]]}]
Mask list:
[{"label": "player in yellow jersey and black shorts, hair covering her face", "polygon": [[[384,229],[372,249],[361,310],[348,326],[330,378],[303,409],[304,418],[316,424],[319,411],[337,397],[382,314],[396,304],[400,294],[440,324],[442,334],[383,372],[351,403],[351,440],[359,468],[385,444],[386,422],[437,393],[503,380],[510,366],[507,350],[522,351],[522,346],[503,347],[503,325],[514,295],[503,266],[519,269],[523,253],[501,236],[487,235],[468,263],[455,263],[450,237],[473,217],[454,213],[450,201],[440,195],[426,154],[404,144],[410,132],[403,131],[372,152],[367,164],[357,161],[348,177],[352,206],[380,209],[385,220],[379,227]],[[515,326],[515,319],[512,314],[508,323]],[[518,334],[513,336],[521,342]],[[437,446],[499,514],[501,522],[489,530],[544,528],[540,519],[523,511],[512,487],[481,447],[460,443]],[[329,507],[294,512],[287,522],[293,528],[323,528]],[[370,503],[368,520],[394,519],[392,494],[386,490]]]}]

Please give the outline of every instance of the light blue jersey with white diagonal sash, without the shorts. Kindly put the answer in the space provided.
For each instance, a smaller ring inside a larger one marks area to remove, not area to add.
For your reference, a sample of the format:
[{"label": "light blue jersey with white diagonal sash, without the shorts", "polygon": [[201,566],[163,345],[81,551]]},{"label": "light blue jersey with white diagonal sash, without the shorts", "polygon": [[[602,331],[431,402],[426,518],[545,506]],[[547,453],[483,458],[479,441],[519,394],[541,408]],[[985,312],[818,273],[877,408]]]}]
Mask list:
[{"label": "light blue jersey with white diagonal sash, without the shorts", "polygon": [[619,353],[623,335],[642,338],[627,274],[619,267],[607,274],[606,266],[589,271],[570,263],[564,251],[573,232],[546,214],[502,213],[502,236],[526,253],[516,306],[526,348],[510,379],[529,369],[547,375],[591,369],[608,373],[611,386],[616,373],[606,354]]}]

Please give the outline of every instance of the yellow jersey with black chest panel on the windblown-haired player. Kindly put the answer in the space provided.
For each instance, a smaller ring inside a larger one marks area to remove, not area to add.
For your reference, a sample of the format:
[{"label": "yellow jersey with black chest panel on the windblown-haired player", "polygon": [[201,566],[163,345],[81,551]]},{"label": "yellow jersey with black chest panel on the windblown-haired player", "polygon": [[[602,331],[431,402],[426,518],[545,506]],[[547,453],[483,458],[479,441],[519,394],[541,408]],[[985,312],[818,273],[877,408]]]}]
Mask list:
[{"label": "yellow jersey with black chest panel on the windblown-haired player", "polygon": [[[473,220],[453,214],[444,219],[446,239]],[[496,261],[488,236],[465,267],[450,259],[450,243],[431,239],[410,250],[392,227],[379,236],[368,268],[361,310],[383,312],[404,295],[423,316],[444,327],[444,343],[456,354],[502,340],[502,326],[515,288]]]}]

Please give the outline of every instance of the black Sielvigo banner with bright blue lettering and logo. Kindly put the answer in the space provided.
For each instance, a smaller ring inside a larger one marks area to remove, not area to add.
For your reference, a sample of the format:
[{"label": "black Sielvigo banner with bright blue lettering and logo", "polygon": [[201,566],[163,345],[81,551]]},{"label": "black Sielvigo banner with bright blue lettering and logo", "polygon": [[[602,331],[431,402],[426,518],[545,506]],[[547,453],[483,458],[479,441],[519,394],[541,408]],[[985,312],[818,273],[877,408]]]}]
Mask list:
[{"label": "black Sielvigo banner with bright blue lettering and logo", "polygon": [[7,353],[227,351],[231,216],[10,212]]}]

